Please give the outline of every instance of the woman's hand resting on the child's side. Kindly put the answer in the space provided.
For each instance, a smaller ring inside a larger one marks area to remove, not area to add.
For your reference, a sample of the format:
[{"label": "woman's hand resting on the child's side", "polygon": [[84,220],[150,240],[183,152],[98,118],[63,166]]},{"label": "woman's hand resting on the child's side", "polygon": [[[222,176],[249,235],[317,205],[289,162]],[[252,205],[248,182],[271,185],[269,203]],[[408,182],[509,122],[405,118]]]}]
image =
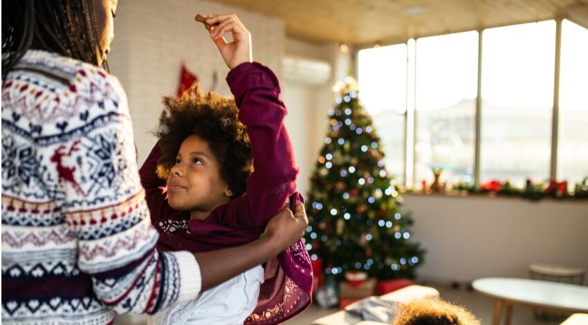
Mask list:
[{"label": "woman's hand resting on the child's side", "polygon": [[266,231],[261,234],[260,238],[268,237],[277,248],[277,254],[296,243],[304,234],[307,225],[309,225],[309,219],[306,218],[306,210],[304,210],[304,205],[299,202],[295,207],[294,214],[286,208],[273,216],[268,221]]}]

